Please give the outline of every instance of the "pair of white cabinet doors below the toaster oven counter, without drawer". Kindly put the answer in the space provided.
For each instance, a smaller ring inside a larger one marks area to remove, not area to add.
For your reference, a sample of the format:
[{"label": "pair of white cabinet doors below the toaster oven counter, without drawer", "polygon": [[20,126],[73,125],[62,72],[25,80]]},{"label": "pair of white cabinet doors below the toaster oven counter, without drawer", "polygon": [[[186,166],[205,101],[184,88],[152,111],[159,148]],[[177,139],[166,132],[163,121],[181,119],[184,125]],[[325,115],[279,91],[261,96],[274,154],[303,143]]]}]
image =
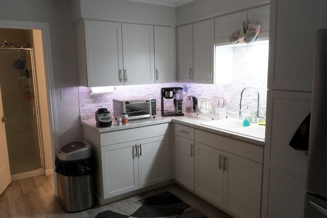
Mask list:
[{"label": "pair of white cabinet doors below the toaster oven counter, without drawer", "polygon": [[101,148],[104,199],[169,179],[166,135]]}]

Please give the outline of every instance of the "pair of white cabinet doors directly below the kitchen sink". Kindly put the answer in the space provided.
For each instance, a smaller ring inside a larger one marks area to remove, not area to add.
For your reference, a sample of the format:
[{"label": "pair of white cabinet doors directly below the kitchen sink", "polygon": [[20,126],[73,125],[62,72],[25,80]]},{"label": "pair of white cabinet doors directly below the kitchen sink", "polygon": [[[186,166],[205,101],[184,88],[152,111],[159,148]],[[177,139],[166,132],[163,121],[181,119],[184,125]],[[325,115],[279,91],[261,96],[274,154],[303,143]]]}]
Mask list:
[{"label": "pair of white cabinet doors directly below the kitchen sink", "polygon": [[260,217],[262,164],[195,142],[195,192],[239,217]]}]

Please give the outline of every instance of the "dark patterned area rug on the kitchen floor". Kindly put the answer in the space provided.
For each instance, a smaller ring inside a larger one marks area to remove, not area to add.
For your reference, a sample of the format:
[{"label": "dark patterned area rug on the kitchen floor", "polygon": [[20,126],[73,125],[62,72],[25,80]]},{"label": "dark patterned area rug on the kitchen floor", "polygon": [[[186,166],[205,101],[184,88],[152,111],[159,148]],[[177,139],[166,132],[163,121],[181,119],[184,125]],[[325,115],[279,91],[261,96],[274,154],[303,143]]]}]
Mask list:
[{"label": "dark patterned area rug on the kitchen floor", "polygon": [[[124,200],[128,201],[128,199]],[[204,218],[198,210],[186,204],[169,191],[159,193],[138,201],[126,203],[122,201],[116,211],[106,210],[98,213],[97,218],[127,218],[127,217],[178,217]],[[117,212],[121,211],[121,212]]]}]

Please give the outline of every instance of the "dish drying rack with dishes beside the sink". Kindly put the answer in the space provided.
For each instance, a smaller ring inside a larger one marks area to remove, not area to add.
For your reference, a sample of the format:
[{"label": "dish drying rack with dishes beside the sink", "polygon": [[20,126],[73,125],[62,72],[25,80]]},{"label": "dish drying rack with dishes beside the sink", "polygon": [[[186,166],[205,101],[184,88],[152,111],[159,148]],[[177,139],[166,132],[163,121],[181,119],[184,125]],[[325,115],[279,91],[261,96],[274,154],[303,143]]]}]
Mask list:
[{"label": "dish drying rack with dishes beside the sink", "polygon": [[199,98],[196,106],[196,115],[211,119],[218,119],[220,115],[226,116],[228,103],[224,98],[213,96],[212,99]]}]

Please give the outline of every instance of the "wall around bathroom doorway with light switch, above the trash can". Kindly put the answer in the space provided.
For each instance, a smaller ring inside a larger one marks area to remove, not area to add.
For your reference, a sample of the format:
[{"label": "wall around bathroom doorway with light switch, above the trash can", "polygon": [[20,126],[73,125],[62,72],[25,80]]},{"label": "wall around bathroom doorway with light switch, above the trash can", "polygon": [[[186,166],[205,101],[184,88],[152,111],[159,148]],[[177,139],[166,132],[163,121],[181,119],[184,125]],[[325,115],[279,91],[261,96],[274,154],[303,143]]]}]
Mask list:
[{"label": "wall around bathroom doorway with light switch, above the trash can", "polygon": [[[78,68],[71,2],[66,0],[0,1],[0,19],[48,22],[54,72],[59,146],[82,138],[79,122]],[[68,101],[60,101],[60,90]]]}]

